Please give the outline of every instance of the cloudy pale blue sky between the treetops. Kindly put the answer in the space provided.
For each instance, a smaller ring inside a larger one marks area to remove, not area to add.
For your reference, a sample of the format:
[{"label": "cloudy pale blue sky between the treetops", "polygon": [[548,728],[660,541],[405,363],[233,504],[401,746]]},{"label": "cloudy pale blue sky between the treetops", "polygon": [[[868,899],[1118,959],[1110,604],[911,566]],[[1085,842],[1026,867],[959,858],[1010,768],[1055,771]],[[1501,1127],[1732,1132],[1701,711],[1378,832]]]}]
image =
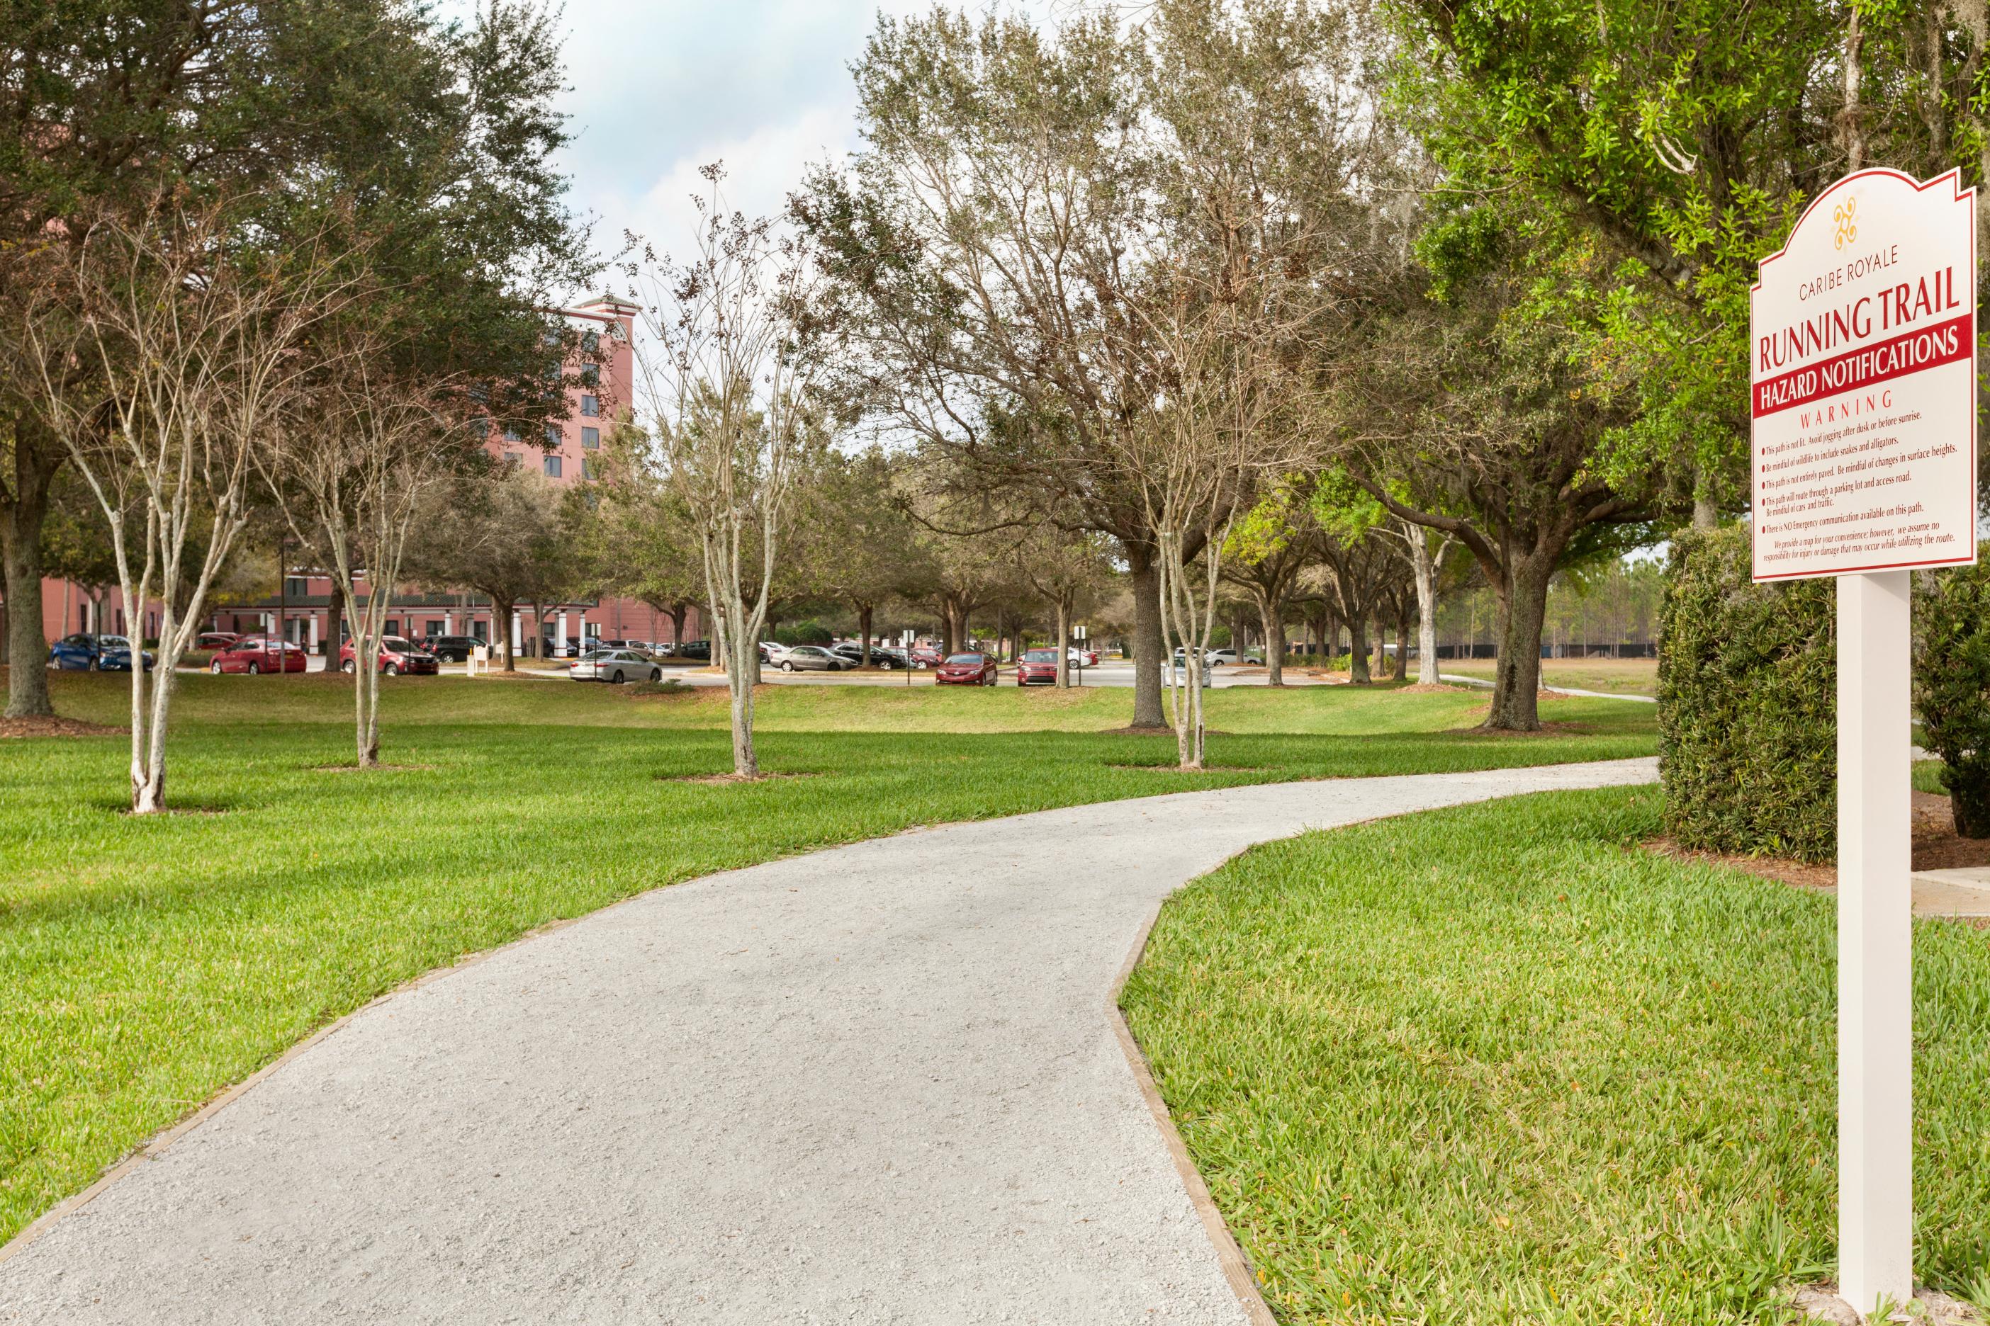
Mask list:
[{"label": "cloudy pale blue sky between the treetops", "polygon": [[[1031,0],[967,0],[985,12]],[[961,0],[953,0],[961,6]],[[468,8],[468,6],[466,6]],[[850,64],[878,14],[931,0],[567,0],[573,205],[597,249],[623,231],[683,252],[698,167],[724,161],[732,203],[780,211],[808,163],[856,147]]]}]

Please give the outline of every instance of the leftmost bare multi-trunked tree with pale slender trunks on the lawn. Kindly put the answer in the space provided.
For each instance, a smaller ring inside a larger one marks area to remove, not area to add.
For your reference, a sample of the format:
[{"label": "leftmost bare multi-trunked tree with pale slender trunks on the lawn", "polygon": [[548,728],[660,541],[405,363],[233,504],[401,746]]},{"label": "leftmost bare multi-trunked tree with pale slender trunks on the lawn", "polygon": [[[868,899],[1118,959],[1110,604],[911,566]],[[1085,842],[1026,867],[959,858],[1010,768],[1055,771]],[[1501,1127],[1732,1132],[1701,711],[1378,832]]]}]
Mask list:
[{"label": "leftmost bare multi-trunked tree with pale slender trunks on the lawn", "polygon": [[[171,199],[105,215],[72,241],[62,280],[26,320],[38,408],[109,521],[131,648],[131,811],[165,809],[173,670],[249,525],[251,453],[289,417],[298,346],[340,300],[318,239],[251,249],[227,205]],[[90,362],[101,394],[74,392]],[[189,557],[197,553],[197,557]],[[159,604],[157,672],[141,624]]]}]

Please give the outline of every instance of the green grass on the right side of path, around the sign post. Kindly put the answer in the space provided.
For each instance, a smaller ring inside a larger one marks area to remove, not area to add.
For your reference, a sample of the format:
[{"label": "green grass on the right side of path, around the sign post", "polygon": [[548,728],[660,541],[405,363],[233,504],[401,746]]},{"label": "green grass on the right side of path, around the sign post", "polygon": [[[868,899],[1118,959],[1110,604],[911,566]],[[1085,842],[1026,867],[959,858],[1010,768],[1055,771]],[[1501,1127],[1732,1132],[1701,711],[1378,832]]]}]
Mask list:
[{"label": "green grass on the right side of path, around the sign post", "polygon": [[[1628,708],[1628,706],[1626,706]],[[1258,847],[1122,1004],[1288,1322],[1781,1322],[1835,1256],[1833,899],[1656,789]],[[1914,926],[1916,1270],[1990,1304],[1990,932]]]}]

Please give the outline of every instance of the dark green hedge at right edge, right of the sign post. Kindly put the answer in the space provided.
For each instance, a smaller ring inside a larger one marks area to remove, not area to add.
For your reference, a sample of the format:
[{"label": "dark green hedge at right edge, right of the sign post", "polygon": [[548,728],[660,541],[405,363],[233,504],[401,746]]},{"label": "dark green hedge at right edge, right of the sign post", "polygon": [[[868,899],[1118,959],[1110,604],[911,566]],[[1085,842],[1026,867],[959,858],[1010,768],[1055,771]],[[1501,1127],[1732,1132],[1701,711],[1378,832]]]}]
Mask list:
[{"label": "dark green hedge at right edge, right of the sign post", "polygon": [[1962,837],[1990,837],[1990,543],[1914,577],[1914,710]]}]

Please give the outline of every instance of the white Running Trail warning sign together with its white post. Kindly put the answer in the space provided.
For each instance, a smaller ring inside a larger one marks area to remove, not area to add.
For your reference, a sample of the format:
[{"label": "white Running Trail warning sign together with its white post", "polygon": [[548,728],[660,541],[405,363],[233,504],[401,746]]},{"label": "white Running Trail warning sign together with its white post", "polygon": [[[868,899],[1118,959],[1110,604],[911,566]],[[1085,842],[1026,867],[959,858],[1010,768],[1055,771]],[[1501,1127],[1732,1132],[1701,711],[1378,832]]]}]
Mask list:
[{"label": "white Running Trail warning sign together with its white post", "polygon": [[1908,573],[1976,561],[1976,191],[1859,171],[1761,262],[1753,571],[1839,577],[1839,1294],[1914,1294]]}]

